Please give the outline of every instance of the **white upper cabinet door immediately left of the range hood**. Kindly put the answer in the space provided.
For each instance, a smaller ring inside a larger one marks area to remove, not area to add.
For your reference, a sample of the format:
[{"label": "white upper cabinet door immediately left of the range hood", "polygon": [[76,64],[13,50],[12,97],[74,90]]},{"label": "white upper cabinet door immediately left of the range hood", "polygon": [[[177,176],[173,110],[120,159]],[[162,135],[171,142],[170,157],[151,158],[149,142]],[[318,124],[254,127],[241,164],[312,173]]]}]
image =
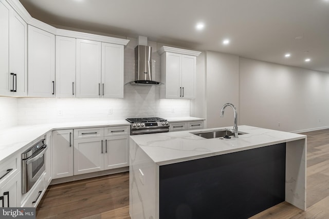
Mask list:
[{"label": "white upper cabinet door immediately left of the range hood", "polygon": [[102,43],[102,97],[123,98],[123,66],[123,45]]}]

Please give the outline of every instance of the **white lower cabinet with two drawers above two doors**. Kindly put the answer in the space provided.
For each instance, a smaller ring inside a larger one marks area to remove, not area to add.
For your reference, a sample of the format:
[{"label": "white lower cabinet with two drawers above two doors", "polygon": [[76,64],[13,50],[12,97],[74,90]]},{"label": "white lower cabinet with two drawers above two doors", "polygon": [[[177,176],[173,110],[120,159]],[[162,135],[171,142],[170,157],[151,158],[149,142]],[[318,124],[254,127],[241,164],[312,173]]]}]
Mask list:
[{"label": "white lower cabinet with two drawers above two doors", "polygon": [[75,129],[74,174],[129,166],[127,127]]}]

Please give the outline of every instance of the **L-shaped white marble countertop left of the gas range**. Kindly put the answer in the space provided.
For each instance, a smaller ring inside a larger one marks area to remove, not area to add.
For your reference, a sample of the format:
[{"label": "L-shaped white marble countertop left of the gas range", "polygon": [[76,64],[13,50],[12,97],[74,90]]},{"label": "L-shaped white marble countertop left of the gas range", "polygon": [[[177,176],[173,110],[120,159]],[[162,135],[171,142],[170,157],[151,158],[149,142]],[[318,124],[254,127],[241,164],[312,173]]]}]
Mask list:
[{"label": "L-shaped white marble countertop left of the gas range", "polygon": [[0,163],[10,155],[45,135],[47,132],[58,129],[76,129],[105,126],[130,126],[125,120],[88,121],[52,123],[30,126],[14,126],[0,130]]}]

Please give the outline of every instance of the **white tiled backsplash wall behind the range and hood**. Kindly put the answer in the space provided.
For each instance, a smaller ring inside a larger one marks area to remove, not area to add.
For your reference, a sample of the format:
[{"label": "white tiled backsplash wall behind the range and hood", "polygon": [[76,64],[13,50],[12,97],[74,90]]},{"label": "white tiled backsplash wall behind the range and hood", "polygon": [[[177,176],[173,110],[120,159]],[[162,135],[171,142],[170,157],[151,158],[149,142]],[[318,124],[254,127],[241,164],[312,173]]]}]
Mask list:
[{"label": "white tiled backsplash wall behind the range and hood", "polygon": [[[124,83],[135,76],[135,47],[137,40],[130,39],[124,49]],[[160,56],[162,45],[149,42],[152,59],[155,59],[154,79],[160,81]],[[163,86],[163,85],[161,85]],[[159,86],[124,86],[123,99],[102,98],[19,98],[18,123],[20,125],[118,120],[127,117],[180,117],[190,115],[189,99],[160,99]],[[172,112],[174,109],[174,112]],[[109,111],[112,110],[112,114]],[[61,112],[61,113],[60,113]]]}]

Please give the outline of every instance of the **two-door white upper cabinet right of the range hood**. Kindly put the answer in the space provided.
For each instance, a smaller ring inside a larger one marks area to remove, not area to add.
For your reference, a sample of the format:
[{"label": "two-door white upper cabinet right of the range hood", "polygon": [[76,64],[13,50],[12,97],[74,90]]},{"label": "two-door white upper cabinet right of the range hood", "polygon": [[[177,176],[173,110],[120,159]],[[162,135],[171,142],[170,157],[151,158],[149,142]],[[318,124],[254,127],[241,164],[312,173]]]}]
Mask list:
[{"label": "two-door white upper cabinet right of the range hood", "polygon": [[163,46],[161,98],[195,98],[196,56],[200,52]]}]

